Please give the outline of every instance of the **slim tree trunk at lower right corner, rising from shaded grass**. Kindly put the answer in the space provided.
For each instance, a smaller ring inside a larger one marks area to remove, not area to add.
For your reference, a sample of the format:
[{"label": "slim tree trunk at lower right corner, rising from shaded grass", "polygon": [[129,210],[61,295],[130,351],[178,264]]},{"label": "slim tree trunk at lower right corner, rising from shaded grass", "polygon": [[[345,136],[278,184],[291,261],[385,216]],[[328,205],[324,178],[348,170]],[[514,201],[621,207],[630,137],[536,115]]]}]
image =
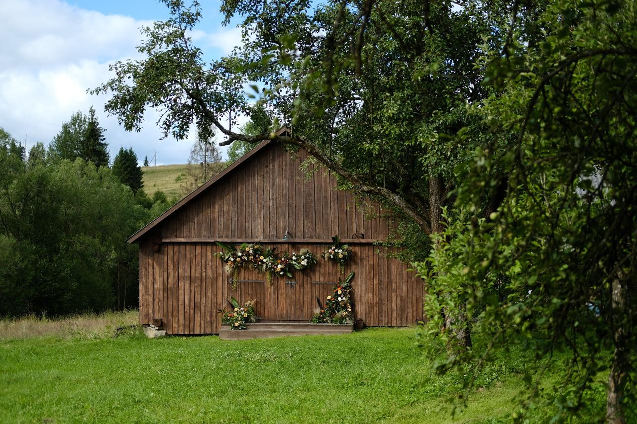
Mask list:
[{"label": "slim tree trunk at lower right corner, rising from shaded grass", "polygon": [[613,424],[626,423],[624,415],[624,387],[626,386],[627,367],[629,366],[629,346],[624,330],[626,320],[626,288],[621,281],[613,281],[611,319],[614,323],[615,352],[613,353],[610,376],[608,376],[608,393],[606,396],[606,422]]}]

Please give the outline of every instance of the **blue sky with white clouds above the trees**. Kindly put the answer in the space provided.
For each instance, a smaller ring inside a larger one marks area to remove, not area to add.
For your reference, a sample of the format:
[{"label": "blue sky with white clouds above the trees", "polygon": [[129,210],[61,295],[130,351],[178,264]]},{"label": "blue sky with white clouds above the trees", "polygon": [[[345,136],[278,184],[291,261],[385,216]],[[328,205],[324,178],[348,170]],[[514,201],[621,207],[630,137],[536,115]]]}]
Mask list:
[{"label": "blue sky with white clouds above the trees", "polygon": [[[218,1],[203,3],[196,44],[216,59],[241,33],[222,26]],[[104,112],[108,96],[87,94],[110,78],[109,63],[140,57],[142,25],[168,17],[159,0],[0,0],[0,127],[27,148],[48,145],[73,113],[94,106],[111,160],[132,147],[140,162],[157,150],[157,165],[186,163],[192,139],[161,140],[157,113],[147,113],[141,132],[127,132]]]}]

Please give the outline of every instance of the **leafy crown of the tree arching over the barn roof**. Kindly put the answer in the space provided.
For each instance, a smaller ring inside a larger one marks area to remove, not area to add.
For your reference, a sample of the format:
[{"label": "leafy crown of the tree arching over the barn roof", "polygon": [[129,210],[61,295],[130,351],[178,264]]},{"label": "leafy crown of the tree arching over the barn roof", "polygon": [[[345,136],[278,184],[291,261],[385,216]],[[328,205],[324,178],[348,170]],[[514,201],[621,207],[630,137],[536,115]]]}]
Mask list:
[{"label": "leafy crown of the tree arching over the barn roof", "polygon": [[[227,2],[227,18],[243,18],[244,45],[208,65],[186,36],[201,19],[197,4],[166,4],[173,17],[143,30],[145,59],[114,64],[115,76],[94,90],[113,94],[106,109],[127,129],[139,129],[145,108],[159,104],[166,108],[164,133],[176,138],[185,138],[194,123],[204,136],[213,127],[228,134],[225,117],[252,115],[256,128],[241,129],[247,138],[229,153],[236,160],[247,143],[269,137],[264,130],[285,122],[294,137],[326,155],[324,164],[354,176],[341,183],[356,181],[368,185],[367,195],[385,194],[401,205],[396,213],[418,222],[425,234],[440,230],[438,206],[455,185],[455,166],[488,139],[480,136],[484,123],[468,108],[487,95],[480,85],[483,69],[474,66],[492,31],[482,11],[435,4],[423,20],[415,1],[378,2],[367,12],[341,2],[316,8],[304,1]],[[345,42],[359,32],[365,14],[364,37]],[[444,32],[428,27],[429,20]],[[255,95],[245,95],[246,85]],[[250,96],[259,97],[256,106]]]}]

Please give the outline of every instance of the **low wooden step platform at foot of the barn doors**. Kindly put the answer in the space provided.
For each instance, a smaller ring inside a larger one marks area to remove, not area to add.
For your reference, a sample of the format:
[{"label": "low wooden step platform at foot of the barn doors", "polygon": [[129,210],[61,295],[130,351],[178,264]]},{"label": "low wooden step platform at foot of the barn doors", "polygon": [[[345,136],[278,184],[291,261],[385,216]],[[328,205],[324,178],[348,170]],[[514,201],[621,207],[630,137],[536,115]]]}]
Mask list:
[{"label": "low wooden step platform at foot of the barn doors", "polygon": [[230,330],[222,327],[219,338],[224,340],[261,339],[285,336],[330,336],[349,334],[352,325],[312,324],[304,322],[269,322],[246,324],[247,330]]}]

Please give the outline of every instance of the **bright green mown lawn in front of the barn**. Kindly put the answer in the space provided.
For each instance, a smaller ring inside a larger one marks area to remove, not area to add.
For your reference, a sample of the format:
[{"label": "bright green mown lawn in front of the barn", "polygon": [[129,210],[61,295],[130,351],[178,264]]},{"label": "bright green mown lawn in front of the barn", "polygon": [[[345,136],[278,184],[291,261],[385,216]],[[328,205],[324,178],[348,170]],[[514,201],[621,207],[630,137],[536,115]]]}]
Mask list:
[{"label": "bright green mown lawn in front of the barn", "polygon": [[415,330],[222,341],[34,337],[0,341],[0,421],[508,422],[522,358],[480,376],[450,417],[459,376],[428,378]]}]

